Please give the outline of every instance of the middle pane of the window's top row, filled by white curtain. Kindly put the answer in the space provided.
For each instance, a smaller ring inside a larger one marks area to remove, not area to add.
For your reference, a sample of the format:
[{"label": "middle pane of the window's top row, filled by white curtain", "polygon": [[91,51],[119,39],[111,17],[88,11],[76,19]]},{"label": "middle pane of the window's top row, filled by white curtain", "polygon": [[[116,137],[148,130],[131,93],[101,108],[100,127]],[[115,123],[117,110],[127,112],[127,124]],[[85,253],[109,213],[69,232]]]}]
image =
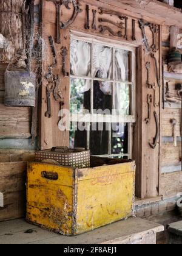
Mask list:
[{"label": "middle pane of the window's top row, filled by white curtain", "polygon": [[93,77],[112,79],[112,48],[93,44]]}]

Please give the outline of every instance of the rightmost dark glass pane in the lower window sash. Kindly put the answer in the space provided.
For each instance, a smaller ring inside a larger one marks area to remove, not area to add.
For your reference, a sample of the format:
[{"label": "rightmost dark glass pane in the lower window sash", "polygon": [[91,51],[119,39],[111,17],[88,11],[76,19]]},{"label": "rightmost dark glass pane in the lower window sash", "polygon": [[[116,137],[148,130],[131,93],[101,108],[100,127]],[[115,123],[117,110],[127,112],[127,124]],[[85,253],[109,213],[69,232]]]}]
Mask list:
[{"label": "rightmost dark glass pane in the lower window sash", "polygon": [[129,124],[112,124],[112,154],[128,154]]}]

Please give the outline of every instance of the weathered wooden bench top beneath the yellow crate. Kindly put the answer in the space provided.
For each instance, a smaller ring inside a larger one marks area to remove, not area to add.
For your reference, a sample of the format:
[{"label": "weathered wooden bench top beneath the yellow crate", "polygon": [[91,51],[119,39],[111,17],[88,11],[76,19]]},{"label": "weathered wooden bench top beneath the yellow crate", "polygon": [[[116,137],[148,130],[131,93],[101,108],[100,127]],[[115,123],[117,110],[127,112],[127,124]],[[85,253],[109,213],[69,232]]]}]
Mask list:
[{"label": "weathered wooden bench top beneath the yellow crate", "polygon": [[[0,222],[0,244],[100,244],[121,243],[163,231],[163,226],[140,218],[129,218],[83,235],[67,237],[30,225],[24,219]],[[135,239],[133,236],[133,239]],[[133,241],[133,240],[132,240]]]}]

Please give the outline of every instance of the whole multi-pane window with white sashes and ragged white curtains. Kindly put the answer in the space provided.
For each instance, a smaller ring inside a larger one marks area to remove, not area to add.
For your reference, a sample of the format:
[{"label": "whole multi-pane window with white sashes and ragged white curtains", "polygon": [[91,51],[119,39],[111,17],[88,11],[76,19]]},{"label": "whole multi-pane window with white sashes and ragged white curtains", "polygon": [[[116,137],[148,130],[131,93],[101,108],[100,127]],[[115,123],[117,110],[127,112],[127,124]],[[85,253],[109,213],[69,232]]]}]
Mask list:
[{"label": "whole multi-pane window with white sashes and ragged white curtains", "polygon": [[135,48],[73,36],[70,46],[70,148],[132,157]]}]

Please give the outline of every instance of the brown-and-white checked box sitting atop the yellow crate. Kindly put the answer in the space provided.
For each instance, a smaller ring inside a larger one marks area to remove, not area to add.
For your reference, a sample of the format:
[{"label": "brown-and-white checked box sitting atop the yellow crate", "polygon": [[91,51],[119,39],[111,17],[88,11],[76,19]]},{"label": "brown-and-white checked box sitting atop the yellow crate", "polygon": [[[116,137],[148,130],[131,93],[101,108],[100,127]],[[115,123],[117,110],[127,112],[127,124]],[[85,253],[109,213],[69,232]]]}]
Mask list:
[{"label": "brown-and-white checked box sitting atop the yellow crate", "polygon": [[90,167],[90,151],[79,148],[52,148],[36,152],[35,161],[73,166],[74,168],[88,168]]}]

